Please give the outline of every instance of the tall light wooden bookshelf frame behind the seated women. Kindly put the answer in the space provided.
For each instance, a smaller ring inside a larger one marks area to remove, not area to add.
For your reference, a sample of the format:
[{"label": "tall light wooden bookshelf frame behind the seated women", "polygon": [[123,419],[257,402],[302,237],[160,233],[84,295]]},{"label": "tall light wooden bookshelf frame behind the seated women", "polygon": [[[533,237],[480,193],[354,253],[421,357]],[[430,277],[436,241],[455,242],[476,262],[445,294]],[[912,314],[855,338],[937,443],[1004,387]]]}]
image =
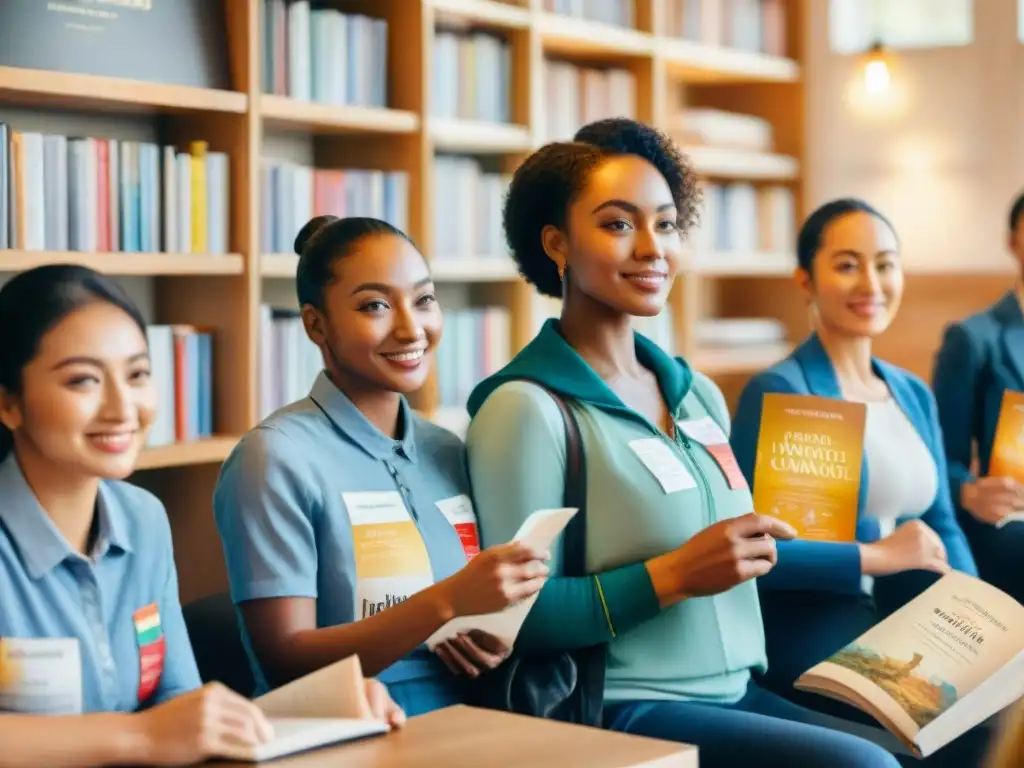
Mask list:
[{"label": "tall light wooden bookshelf frame behind the seated women", "polygon": [[[211,0],[214,2],[215,0]],[[615,66],[636,76],[636,114],[669,128],[679,102],[719,106],[768,119],[770,154],[694,148],[707,177],[780,182],[798,197],[803,160],[802,2],[787,3],[788,55],[670,38],[663,0],[635,0],[636,28],[626,29],[547,12],[543,0],[379,0],[369,5],[331,0],[328,6],[385,18],[387,106],[321,103],[263,92],[260,0],[216,0],[227,15],[230,90],[209,90],[58,72],[0,68],[0,104],[69,114],[153,116],[162,142],[203,139],[230,161],[227,255],[193,253],[51,253],[0,251],[0,271],[74,261],[117,275],[152,278],[155,319],[213,329],[214,432],[198,442],[145,451],[140,484],[168,507],[178,552],[181,590],[191,599],[223,589],[219,543],[210,514],[219,463],[259,414],[260,312],[274,285],[294,279],[297,258],[260,242],[260,184],[265,134],[312,137],[316,168],[375,168],[408,173],[408,230],[433,265],[436,281],[510,311],[511,352],[534,333],[534,289],[507,259],[438,253],[433,231],[437,152],[483,156],[512,172],[545,135],[546,57]],[[483,29],[510,46],[510,120],[442,120],[431,110],[433,45],[438,26]],[[12,127],[16,130],[17,125]],[[281,246],[279,245],[279,250]],[[757,350],[697,348],[692,325],[710,314],[745,316],[792,273],[787,254],[693,253],[672,294],[676,351],[716,377],[746,375],[777,359],[786,344]],[[272,281],[278,281],[274,284]],[[441,409],[436,375],[415,399],[428,416],[461,428],[460,409]],[[201,565],[195,563],[202,562]]]}]

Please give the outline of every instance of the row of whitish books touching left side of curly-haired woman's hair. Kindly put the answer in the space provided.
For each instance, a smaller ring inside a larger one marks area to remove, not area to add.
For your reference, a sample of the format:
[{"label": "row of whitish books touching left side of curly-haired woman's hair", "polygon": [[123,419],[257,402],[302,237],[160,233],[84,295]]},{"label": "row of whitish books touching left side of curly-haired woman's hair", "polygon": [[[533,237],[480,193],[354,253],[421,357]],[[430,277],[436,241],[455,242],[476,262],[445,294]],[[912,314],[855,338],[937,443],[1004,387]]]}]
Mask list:
[{"label": "row of whitish books touching left side of curly-haired woman's hair", "polygon": [[502,208],[510,182],[510,174],[488,171],[475,158],[437,156],[434,164],[435,258],[508,255]]}]

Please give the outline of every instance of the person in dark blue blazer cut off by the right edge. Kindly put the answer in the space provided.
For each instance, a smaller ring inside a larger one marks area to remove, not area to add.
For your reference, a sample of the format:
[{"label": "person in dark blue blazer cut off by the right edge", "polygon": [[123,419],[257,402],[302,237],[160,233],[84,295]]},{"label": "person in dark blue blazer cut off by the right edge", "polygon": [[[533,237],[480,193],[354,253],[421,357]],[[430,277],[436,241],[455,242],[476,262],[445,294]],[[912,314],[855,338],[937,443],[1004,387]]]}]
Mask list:
[{"label": "person in dark blue blazer cut off by the right edge", "polygon": [[[1010,210],[1008,247],[1024,263],[1024,195]],[[935,358],[932,386],[949,462],[949,494],[982,578],[1024,601],[1024,524],[996,524],[1024,511],[1024,485],[989,475],[1005,392],[1024,391],[1024,292],[1020,279],[992,306],[950,325]],[[972,470],[977,458],[978,471]]]}]

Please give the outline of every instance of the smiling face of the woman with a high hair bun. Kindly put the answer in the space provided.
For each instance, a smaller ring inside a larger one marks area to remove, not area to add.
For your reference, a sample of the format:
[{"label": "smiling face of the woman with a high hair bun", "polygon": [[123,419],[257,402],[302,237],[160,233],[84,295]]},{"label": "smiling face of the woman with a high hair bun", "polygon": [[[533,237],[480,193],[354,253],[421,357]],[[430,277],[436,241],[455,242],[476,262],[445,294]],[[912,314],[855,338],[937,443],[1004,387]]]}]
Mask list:
[{"label": "smiling face of the woman with a high hair bun", "polygon": [[302,309],[342,389],[408,393],[423,386],[443,319],[426,261],[394,234],[360,239],[334,262],[325,311]]}]

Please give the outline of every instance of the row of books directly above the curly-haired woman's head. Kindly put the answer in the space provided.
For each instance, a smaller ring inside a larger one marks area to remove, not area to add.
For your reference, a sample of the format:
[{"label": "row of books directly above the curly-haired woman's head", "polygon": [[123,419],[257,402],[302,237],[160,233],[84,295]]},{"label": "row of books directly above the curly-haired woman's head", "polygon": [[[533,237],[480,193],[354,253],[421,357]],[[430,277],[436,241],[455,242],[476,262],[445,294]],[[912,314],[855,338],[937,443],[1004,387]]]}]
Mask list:
[{"label": "row of books directly above the curly-haired woman's head", "polygon": [[581,126],[595,120],[637,117],[637,81],[629,70],[547,59],[544,86],[548,141],[568,141]]}]

